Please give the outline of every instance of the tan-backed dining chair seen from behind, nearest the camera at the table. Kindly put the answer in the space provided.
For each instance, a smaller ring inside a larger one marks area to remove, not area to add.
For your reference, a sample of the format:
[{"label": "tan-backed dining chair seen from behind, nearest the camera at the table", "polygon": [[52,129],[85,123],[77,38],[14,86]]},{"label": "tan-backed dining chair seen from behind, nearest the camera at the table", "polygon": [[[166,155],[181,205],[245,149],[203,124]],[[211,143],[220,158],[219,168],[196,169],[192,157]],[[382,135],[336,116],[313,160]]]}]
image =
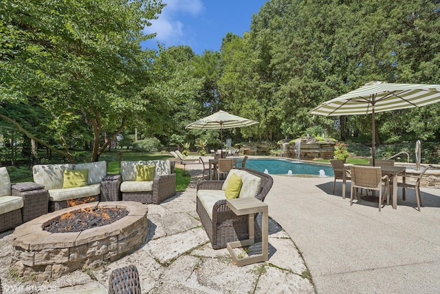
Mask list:
[{"label": "tan-backed dining chair seen from behind, nearest the camera at the table", "polygon": [[362,167],[358,165],[352,165],[351,171],[351,193],[350,193],[350,205],[353,205],[353,194],[356,199],[356,188],[370,189],[379,191],[379,211],[382,208],[384,202],[382,198],[382,180],[385,182],[386,189],[386,205],[390,202],[389,183],[388,176],[382,177],[381,167]]}]

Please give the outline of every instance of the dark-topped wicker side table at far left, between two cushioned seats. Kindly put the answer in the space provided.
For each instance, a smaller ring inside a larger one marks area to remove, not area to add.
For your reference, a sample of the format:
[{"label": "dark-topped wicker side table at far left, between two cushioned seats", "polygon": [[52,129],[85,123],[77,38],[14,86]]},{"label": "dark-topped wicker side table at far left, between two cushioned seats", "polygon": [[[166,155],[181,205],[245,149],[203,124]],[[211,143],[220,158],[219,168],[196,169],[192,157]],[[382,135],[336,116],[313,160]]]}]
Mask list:
[{"label": "dark-topped wicker side table at far left, between two cushioned seats", "polygon": [[23,222],[28,222],[47,213],[49,192],[43,185],[34,182],[19,182],[12,185],[12,196],[23,198]]}]

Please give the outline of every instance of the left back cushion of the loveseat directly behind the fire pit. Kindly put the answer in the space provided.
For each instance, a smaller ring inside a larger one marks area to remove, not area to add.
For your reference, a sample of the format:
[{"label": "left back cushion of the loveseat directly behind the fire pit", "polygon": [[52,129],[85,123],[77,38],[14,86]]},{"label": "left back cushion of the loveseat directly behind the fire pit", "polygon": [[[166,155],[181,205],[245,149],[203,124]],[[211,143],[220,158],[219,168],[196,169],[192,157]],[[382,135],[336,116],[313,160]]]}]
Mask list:
[{"label": "left back cushion of the loveseat directly behind the fire pit", "polygon": [[34,182],[43,185],[45,189],[63,188],[63,171],[65,169],[74,169],[74,165],[69,163],[62,165],[34,165],[32,173]]}]

